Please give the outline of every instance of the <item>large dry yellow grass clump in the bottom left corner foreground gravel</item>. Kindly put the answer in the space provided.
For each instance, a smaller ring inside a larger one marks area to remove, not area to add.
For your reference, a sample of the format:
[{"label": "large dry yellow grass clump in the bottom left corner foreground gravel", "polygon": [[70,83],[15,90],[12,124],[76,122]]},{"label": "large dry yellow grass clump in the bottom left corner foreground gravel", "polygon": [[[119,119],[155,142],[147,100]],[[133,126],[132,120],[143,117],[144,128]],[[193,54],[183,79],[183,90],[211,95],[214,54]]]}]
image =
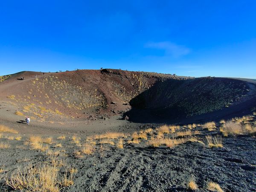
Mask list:
[{"label": "large dry yellow grass clump in the bottom left corner foreground gravel", "polygon": [[58,169],[49,165],[27,166],[21,170],[18,168],[9,178],[6,184],[12,189],[36,192],[59,192],[61,189],[58,181]]}]

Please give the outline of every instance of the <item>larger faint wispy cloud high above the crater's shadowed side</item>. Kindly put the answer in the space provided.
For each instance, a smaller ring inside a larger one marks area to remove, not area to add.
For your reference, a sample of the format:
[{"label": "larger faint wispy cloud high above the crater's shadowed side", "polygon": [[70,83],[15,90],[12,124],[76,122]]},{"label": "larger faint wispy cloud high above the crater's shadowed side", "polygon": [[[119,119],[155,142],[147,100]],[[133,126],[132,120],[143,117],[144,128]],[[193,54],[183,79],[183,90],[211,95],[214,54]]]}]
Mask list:
[{"label": "larger faint wispy cloud high above the crater's shadowed side", "polygon": [[189,48],[182,45],[177,45],[169,41],[149,42],[145,44],[144,47],[153,49],[163,49],[165,51],[165,55],[171,55],[175,58],[187,55],[189,54],[189,52],[191,52]]}]

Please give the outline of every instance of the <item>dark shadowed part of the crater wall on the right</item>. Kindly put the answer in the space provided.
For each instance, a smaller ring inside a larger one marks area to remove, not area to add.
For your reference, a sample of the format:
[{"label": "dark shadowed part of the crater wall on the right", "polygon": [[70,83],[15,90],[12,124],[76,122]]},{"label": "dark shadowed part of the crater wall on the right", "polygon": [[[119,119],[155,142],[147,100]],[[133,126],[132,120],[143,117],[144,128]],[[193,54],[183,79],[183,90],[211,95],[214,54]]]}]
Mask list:
[{"label": "dark shadowed part of the crater wall on the right", "polygon": [[[156,82],[151,88],[131,99],[132,109],[125,115],[134,122],[191,119],[238,105],[249,89],[247,82],[237,79],[167,79]],[[212,116],[208,119],[212,119]]]}]

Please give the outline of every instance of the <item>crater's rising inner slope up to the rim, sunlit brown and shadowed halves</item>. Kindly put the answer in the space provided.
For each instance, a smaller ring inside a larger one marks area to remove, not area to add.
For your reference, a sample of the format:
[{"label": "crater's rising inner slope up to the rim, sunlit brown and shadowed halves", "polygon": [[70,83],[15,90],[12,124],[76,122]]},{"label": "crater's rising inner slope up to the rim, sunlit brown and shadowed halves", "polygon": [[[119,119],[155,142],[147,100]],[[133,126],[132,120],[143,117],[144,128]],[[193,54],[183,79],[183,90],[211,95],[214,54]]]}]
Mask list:
[{"label": "crater's rising inner slope up to the rim, sunlit brown and shadowed halves", "polygon": [[[20,80],[21,76],[24,80]],[[244,79],[190,78],[112,69],[44,74],[25,71],[4,77],[0,89],[0,99],[16,106],[16,114],[38,121],[64,117],[94,119],[125,113],[131,121],[146,122],[148,117],[187,118],[223,108],[227,115],[234,113],[232,107],[255,96],[255,85]],[[251,103],[247,110],[254,105]]]}]

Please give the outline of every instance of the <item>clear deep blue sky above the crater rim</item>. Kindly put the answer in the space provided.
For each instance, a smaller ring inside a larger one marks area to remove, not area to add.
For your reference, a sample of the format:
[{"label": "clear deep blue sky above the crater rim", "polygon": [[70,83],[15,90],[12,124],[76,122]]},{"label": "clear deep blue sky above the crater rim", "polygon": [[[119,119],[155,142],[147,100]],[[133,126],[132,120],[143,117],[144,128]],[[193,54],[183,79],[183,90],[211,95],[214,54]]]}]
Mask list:
[{"label": "clear deep blue sky above the crater rim", "polygon": [[0,75],[116,68],[256,79],[255,0],[0,2]]}]

